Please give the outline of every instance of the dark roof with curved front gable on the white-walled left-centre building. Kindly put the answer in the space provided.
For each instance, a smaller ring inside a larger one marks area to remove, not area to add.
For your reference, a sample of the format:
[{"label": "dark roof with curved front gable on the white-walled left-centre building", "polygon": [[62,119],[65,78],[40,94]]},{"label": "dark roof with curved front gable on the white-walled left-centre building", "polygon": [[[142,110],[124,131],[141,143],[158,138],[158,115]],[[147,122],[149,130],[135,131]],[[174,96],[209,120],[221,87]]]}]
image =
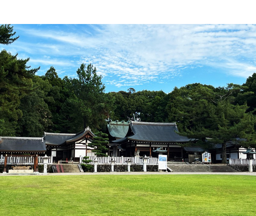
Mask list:
[{"label": "dark roof with curved front gable on the white-walled left-centre building", "polygon": [[91,137],[95,137],[94,133],[89,127],[86,130],[79,133],[47,133],[44,132],[44,142],[46,145],[59,146],[65,145],[68,142],[76,142],[82,139],[86,134],[90,134]]}]

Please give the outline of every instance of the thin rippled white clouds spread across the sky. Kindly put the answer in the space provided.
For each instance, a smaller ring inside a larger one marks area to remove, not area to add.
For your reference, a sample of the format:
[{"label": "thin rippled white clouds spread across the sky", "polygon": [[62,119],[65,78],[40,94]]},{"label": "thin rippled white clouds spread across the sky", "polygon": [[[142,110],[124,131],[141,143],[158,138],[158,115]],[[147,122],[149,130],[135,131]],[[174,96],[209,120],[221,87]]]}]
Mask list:
[{"label": "thin rippled white clouds spread across the sky", "polygon": [[92,63],[106,79],[115,76],[116,82],[109,83],[117,87],[163,83],[182,76],[184,69],[203,66],[240,77],[256,71],[255,25],[90,25],[70,32],[19,29],[48,41],[13,46],[48,58],[31,58],[31,62],[71,66],[73,60],[55,56],[76,57],[77,65]]}]

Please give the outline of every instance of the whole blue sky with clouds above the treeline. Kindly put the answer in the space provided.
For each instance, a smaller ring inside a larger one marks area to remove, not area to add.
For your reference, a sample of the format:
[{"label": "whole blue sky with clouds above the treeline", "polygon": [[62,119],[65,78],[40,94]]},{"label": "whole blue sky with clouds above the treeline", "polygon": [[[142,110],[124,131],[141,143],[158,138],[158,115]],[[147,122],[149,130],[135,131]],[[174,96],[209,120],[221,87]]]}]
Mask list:
[{"label": "whole blue sky with clouds above the treeline", "polygon": [[106,92],[163,90],[190,83],[243,84],[256,72],[255,25],[13,25],[20,38],[0,45],[44,75],[76,77],[92,63]]}]

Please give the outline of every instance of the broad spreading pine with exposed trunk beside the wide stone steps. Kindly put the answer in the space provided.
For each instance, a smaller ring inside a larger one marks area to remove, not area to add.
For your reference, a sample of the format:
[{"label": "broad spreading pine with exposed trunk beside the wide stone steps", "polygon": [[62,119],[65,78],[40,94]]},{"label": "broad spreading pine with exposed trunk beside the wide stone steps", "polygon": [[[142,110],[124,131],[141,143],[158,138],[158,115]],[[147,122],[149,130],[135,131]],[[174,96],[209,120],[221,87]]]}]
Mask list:
[{"label": "broad spreading pine with exposed trunk beside the wide stone steps", "polygon": [[247,112],[246,104],[232,104],[233,94],[241,91],[240,86],[228,84],[226,88],[213,88],[192,84],[181,89],[171,93],[169,113],[173,121],[182,123],[180,134],[198,139],[198,144],[208,144],[208,147],[221,144],[222,163],[227,162],[228,142],[235,141],[244,147],[255,145],[255,116]]}]

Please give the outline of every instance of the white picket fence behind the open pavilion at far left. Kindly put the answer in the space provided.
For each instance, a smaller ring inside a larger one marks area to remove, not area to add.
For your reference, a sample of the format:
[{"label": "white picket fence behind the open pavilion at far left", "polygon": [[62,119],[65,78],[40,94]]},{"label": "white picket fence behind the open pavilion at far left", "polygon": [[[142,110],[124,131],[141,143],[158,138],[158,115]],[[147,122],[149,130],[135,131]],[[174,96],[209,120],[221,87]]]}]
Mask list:
[{"label": "white picket fence behind the open pavilion at far left", "polygon": [[[43,164],[44,159],[41,156],[38,156],[38,164]],[[0,156],[0,164],[4,164],[4,156]],[[7,164],[34,164],[34,157],[28,156],[8,156]],[[52,156],[48,159],[48,164],[52,164]]]}]

